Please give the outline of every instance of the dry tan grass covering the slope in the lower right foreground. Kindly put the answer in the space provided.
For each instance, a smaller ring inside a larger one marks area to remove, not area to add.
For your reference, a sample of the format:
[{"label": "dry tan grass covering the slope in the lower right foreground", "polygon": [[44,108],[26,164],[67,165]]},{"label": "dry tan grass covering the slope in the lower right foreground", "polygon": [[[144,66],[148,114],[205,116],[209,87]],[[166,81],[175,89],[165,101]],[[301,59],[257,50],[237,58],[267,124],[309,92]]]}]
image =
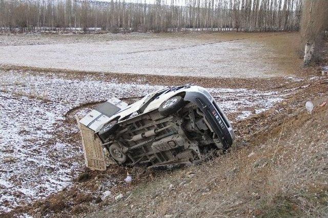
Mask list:
[{"label": "dry tan grass covering the slope in the lower right foreground", "polygon": [[[324,95],[314,103],[326,100]],[[283,122],[247,142],[237,142],[228,154],[201,165],[160,172],[153,181],[139,185],[127,202],[91,216],[326,215],[328,109],[317,107],[309,115],[302,104],[280,115],[285,117]],[[189,178],[188,172],[195,177]],[[186,184],[181,185],[183,181]]]}]

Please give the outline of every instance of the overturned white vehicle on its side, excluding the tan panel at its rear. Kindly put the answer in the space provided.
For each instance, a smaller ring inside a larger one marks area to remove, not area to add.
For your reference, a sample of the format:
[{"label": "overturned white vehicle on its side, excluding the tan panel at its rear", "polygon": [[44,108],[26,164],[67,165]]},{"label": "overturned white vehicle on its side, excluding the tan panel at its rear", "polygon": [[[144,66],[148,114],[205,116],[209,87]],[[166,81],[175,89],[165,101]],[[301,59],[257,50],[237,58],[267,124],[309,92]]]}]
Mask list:
[{"label": "overturned white vehicle on its side, excluding the tan panel at its rear", "polygon": [[235,138],[211,94],[190,85],[162,89],[131,105],[113,98],[79,122],[117,164],[131,166],[199,162],[228,149]]}]

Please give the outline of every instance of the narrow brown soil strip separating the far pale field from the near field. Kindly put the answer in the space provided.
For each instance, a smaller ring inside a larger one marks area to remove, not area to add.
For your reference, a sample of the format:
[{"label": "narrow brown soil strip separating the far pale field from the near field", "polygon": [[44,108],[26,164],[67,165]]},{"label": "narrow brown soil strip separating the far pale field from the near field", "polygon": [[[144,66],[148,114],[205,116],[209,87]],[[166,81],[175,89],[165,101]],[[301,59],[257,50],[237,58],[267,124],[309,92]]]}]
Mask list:
[{"label": "narrow brown soil strip separating the far pale field from the near field", "polygon": [[[117,73],[104,73],[99,72],[85,72],[85,71],[72,71],[61,69],[37,68],[37,67],[20,67],[20,66],[1,66],[2,70],[19,70],[27,71],[29,74],[47,75],[55,74],[57,77],[60,75],[66,79],[82,79],[112,81],[115,80],[120,83],[139,83],[151,85],[167,85],[178,86],[181,84],[194,84],[207,88],[249,88],[258,90],[284,90],[294,88],[295,82],[287,77],[276,78],[253,78],[253,79],[237,79],[237,78],[208,78],[208,77],[185,77],[185,76],[156,76],[156,75],[135,75],[135,74],[117,74]],[[321,67],[313,66],[311,68],[304,68],[298,70],[297,75],[303,78],[311,78],[314,76],[321,76]],[[297,85],[306,84],[308,81],[298,82]]]}]

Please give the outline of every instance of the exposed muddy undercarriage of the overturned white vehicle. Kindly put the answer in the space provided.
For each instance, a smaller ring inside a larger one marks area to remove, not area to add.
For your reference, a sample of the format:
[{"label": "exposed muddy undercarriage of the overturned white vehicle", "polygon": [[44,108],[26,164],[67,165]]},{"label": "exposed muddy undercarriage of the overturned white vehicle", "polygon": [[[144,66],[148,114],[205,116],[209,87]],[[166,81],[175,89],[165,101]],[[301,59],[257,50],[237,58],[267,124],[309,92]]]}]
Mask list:
[{"label": "exposed muddy undercarriage of the overturned white vehicle", "polygon": [[195,103],[163,116],[157,110],[120,122],[103,146],[122,165],[167,166],[207,159],[222,143]]}]

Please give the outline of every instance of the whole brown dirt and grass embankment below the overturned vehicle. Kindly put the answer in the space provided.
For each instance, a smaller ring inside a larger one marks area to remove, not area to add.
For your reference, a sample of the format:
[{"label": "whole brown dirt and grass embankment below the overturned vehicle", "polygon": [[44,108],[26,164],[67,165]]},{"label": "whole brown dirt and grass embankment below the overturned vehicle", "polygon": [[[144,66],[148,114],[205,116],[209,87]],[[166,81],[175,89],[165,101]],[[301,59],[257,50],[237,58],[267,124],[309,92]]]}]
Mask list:
[{"label": "whole brown dirt and grass embankment below the overturned vehicle", "polygon": [[[328,105],[320,105],[328,101],[327,88],[322,78],[269,111],[236,122],[234,147],[209,162],[165,171],[116,165],[86,171],[72,188],[5,216],[326,215]],[[304,107],[309,100],[312,114]],[[132,183],[123,182],[127,172]]]}]

